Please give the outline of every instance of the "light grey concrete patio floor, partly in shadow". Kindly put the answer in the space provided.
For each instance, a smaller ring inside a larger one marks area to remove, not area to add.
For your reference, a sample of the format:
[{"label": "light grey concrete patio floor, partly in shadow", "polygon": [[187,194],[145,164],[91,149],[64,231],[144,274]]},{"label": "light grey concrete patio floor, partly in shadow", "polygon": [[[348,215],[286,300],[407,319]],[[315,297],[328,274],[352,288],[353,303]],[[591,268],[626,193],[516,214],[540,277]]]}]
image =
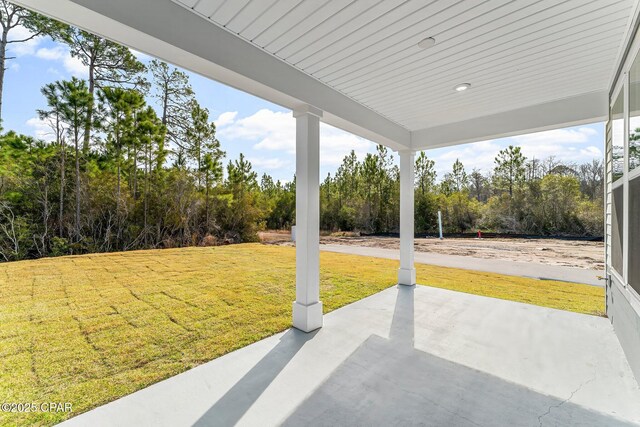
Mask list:
[{"label": "light grey concrete patio floor, partly in shadow", "polygon": [[393,287],[67,426],[640,424],[608,319]]}]

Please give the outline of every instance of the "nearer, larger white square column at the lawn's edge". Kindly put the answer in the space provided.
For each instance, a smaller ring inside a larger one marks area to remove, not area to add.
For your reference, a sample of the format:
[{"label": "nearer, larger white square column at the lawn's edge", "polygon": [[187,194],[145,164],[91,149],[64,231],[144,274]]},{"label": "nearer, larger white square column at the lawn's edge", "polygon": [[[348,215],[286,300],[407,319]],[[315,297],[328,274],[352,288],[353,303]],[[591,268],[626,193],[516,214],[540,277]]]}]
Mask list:
[{"label": "nearer, larger white square column at the lawn's edge", "polygon": [[296,300],[293,326],[322,327],[320,302],[320,117],[306,106],[296,118]]}]

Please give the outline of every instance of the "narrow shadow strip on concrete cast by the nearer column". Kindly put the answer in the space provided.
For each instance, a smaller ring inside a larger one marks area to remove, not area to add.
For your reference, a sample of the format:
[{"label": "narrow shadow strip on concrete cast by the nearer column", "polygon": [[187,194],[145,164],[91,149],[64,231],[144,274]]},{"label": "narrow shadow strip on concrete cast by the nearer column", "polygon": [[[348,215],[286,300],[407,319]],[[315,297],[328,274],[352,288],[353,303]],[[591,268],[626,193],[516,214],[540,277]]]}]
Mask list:
[{"label": "narrow shadow strip on concrete cast by the nearer column", "polygon": [[289,329],[280,342],[209,408],[194,426],[235,425],[316,332],[307,334]]}]

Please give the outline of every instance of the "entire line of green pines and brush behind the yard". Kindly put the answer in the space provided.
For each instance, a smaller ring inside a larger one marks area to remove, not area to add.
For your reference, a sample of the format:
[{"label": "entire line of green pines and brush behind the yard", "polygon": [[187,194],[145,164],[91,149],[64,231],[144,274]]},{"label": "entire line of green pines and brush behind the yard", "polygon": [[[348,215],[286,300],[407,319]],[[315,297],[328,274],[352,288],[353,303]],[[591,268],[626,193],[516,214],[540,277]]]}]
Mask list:
[{"label": "entire line of green pines and brush behind the yard", "polygon": [[[4,0],[0,26],[2,71],[7,46],[31,39],[10,39],[18,26],[66,44],[87,71],[41,89],[49,141],[0,135],[1,261],[248,242],[294,224],[295,177],[259,178],[242,154],[227,161],[186,73]],[[3,84],[1,73],[0,100]],[[509,147],[491,174],[456,161],[438,180],[420,153],[415,192],[420,233],[436,230],[440,210],[447,232],[601,234],[598,161],[527,160]],[[399,170],[383,146],[362,160],[348,154],[320,197],[323,230],[398,230]]]}]

